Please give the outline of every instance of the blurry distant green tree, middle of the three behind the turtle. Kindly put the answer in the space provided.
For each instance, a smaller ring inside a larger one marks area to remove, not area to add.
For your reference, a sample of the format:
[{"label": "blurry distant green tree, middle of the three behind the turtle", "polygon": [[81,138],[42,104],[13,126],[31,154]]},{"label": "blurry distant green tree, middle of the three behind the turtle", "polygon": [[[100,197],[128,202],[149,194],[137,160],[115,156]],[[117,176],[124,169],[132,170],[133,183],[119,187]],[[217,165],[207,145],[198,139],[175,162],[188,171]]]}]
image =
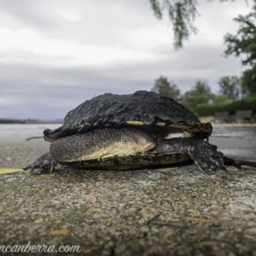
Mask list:
[{"label": "blurry distant green tree, middle of the three behind the turtle", "polygon": [[190,111],[195,112],[198,104],[207,104],[212,99],[211,88],[207,81],[198,80],[192,90],[182,97],[182,104]]}]

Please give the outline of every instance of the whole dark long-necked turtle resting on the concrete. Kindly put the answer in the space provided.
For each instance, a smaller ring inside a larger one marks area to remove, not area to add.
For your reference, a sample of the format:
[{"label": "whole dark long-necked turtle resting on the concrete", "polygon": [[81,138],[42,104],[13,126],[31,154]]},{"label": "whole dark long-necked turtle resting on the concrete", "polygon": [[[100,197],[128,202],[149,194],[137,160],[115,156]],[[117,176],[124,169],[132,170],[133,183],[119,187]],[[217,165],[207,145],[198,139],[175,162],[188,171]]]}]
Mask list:
[{"label": "whole dark long-necked turtle resting on the concrete", "polygon": [[[177,133],[181,136],[172,138]],[[223,167],[223,154],[208,140],[210,123],[176,100],[155,92],[104,93],[69,111],[58,129],[45,129],[49,152],[24,170],[47,173],[72,168],[131,170],[193,159],[211,174]],[[154,168],[154,167],[153,167]]]}]

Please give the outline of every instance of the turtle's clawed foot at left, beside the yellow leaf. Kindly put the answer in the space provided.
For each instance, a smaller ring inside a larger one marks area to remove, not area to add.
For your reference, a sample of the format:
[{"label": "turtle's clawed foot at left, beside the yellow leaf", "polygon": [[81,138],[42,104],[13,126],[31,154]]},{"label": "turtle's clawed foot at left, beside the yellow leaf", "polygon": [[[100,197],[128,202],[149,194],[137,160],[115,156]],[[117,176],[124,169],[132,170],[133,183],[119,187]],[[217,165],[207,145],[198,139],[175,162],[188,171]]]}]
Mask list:
[{"label": "turtle's clawed foot at left, beside the yellow leaf", "polygon": [[56,161],[52,159],[51,153],[46,152],[42,156],[38,157],[36,161],[29,164],[23,170],[29,170],[31,174],[41,174],[41,173],[52,173],[56,168]]}]

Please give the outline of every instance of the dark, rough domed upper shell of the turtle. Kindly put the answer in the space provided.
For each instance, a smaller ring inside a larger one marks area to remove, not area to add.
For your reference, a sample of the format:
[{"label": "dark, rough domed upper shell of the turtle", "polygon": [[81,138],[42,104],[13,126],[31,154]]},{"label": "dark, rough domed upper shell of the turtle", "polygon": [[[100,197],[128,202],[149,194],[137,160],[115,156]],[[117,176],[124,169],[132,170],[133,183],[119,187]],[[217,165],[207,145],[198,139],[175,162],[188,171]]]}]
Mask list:
[{"label": "dark, rough domed upper shell of the turtle", "polygon": [[44,138],[54,141],[89,129],[134,125],[178,127],[202,139],[212,132],[210,123],[202,124],[176,100],[154,92],[138,91],[127,95],[105,93],[86,100],[67,113],[61,127],[46,129]]}]

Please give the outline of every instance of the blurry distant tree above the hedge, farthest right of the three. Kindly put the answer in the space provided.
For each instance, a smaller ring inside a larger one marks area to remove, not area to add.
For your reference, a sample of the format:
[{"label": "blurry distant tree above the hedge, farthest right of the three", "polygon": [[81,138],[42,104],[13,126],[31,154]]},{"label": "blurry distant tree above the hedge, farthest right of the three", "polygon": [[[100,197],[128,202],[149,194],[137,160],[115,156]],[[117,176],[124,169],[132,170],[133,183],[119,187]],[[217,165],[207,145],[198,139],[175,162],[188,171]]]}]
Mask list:
[{"label": "blurry distant tree above the hedge, farthest right of the three", "polygon": [[[226,95],[230,100],[239,99],[242,93],[240,79],[237,76],[223,76],[218,81],[220,93]],[[243,94],[243,93],[242,93]]]}]

